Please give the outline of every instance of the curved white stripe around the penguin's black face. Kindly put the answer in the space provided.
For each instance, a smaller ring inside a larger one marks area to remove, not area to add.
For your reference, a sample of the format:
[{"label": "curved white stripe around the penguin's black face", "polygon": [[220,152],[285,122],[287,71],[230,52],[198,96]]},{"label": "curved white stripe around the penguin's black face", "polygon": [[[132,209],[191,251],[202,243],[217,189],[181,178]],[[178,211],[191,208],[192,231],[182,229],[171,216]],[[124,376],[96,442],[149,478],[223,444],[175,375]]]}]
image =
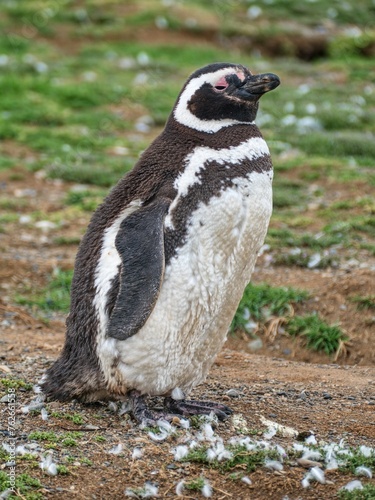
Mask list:
[{"label": "curved white stripe around the penguin's black face", "polygon": [[221,70],[214,71],[212,73],[205,73],[198,76],[197,78],[193,78],[186,85],[176,104],[173,113],[175,120],[182,125],[185,125],[186,127],[210,134],[218,132],[223,127],[238,125],[239,123],[246,123],[249,125],[249,122],[242,122],[231,118],[224,118],[222,120],[201,120],[200,118],[193,115],[193,113],[188,108],[190,99],[195,94],[195,92],[202,87],[202,85],[204,85],[205,83],[209,83],[210,85],[215,86],[217,82],[220,82],[221,79],[225,79],[225,76],[233,74],[233,72],[235,72],[235,68],[233,67],[223,68]]}]

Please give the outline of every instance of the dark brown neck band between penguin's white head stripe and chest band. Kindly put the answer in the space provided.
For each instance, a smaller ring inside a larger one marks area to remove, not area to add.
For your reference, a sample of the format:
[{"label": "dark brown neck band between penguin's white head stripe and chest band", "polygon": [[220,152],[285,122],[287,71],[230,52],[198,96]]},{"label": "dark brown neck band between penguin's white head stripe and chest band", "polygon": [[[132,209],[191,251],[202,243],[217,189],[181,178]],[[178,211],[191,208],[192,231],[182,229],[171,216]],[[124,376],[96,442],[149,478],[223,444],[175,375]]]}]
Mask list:
[{"label": "dark brown neck band between penguin's white head stripe and chest band", "polygon": [[229,148],[252,137],[262,137],[254,122],[228,125],[217,132],[208,133],[182,125],[175,120],[173,114],[170,115],[163,134],[177,144],[186,144],[188,141],[195,146],[207,146],[214,149]]}]

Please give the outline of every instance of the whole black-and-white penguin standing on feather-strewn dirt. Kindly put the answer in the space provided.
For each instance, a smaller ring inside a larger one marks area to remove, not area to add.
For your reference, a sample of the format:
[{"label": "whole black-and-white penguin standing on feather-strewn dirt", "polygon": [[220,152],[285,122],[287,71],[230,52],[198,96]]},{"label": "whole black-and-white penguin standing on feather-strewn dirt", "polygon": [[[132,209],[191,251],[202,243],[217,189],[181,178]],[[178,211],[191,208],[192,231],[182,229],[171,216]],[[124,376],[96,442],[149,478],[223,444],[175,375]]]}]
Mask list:
[{"label": "whole black-and-white penguin standing on feather-strewn dirt", "polygon": [[[75,262],[66,340],[42,381],[58,400],[126,400],[137,421],[231,410],[186,400],[220,351],[272,211],[254,123],[272,74],[210,64],[94,213]],[[147,407],[163,396],[165,411]]]}]

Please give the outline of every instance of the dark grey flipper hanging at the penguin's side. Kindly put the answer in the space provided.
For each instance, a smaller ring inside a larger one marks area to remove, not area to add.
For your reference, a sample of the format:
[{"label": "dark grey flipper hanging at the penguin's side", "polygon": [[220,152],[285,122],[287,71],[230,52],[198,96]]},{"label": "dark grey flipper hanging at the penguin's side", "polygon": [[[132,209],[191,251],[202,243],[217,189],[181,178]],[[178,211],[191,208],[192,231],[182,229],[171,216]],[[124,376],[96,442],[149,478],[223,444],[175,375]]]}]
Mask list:
[{"label": "dark grey flipper hanging at the penguin's side", "polygon": [[126,217],[116,236],[120,287],[107,335],[126,340],[150,316],[164,276],[164,218],[171,201],[159,198]]}]

